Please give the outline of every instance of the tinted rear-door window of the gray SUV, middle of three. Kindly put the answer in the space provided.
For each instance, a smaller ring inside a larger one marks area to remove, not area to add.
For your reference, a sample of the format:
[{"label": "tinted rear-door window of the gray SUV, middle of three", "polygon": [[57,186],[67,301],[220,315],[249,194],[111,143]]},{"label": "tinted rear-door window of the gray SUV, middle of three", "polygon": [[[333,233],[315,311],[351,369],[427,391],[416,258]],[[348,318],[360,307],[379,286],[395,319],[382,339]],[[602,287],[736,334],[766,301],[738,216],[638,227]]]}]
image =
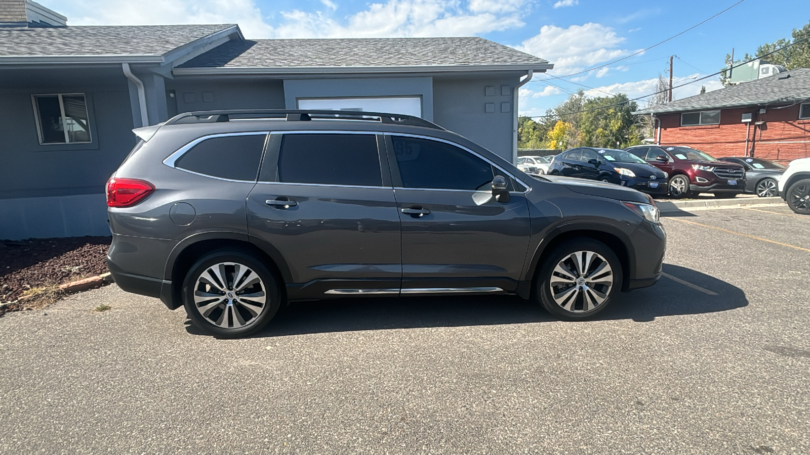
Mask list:
[{"label": "tinted rear-door window of the gray SUV, middle of three", "polygon": [[284,134],[279,181],[381,186],[377,137],[373,134]]}]

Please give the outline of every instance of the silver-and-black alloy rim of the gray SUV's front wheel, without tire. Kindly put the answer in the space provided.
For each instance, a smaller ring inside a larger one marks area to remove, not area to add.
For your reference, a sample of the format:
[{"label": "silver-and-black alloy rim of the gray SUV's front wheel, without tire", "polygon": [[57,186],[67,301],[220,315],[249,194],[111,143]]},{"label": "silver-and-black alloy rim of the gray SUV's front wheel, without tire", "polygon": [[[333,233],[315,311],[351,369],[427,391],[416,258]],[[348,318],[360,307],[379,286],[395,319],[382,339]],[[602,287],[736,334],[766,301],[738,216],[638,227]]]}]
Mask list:
[{"label": "silver-and-black alloy rim of the gray SUV's front wheel, without tire", "polygon": [[593,251],[578,251],[564,257],[548,282],[554,302],[571,313],[599,308],[613,287],[608,260]]}]

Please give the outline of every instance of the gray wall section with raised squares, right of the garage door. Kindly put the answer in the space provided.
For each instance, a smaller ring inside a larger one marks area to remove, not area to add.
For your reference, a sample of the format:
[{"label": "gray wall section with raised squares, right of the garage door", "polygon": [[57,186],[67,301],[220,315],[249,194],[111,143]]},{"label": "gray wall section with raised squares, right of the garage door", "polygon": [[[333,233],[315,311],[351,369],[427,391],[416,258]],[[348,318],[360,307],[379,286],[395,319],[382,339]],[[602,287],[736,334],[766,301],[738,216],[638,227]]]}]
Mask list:
[{"label": "gray wall section with raised squares, right of the garage door", "polygon": [[518,75],[433,78],[433,121],[512,161],[518,81]]}]

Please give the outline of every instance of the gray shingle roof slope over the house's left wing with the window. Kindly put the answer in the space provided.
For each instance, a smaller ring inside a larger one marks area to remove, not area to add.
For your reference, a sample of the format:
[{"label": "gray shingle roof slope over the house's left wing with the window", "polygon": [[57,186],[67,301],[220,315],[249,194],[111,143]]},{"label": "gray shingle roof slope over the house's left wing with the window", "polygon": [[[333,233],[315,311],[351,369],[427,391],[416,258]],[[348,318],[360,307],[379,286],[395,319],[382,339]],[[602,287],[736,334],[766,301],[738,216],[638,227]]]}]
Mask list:
[{"label": "gray shingle roof slope over the house's left wing with the window", "polygon": [[230,27],[233,25],[0,28],[0,57],[160,56]]}]

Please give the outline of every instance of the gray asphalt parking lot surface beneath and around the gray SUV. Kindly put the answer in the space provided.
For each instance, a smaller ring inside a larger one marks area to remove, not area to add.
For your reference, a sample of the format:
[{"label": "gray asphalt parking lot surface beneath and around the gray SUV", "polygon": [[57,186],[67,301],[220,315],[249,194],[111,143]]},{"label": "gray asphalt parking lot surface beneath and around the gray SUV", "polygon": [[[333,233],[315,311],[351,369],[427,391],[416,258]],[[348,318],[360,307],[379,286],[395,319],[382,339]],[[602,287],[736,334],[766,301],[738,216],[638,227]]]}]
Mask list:
[{"label": "gray asphalt parking lot surface beneath and around the gray SUV", "polygon": [[663,223],[664,277],[596,321],[331,300],[220,340],[114,285],[2,317],[0,453],[810,453],[810,219]]}]

